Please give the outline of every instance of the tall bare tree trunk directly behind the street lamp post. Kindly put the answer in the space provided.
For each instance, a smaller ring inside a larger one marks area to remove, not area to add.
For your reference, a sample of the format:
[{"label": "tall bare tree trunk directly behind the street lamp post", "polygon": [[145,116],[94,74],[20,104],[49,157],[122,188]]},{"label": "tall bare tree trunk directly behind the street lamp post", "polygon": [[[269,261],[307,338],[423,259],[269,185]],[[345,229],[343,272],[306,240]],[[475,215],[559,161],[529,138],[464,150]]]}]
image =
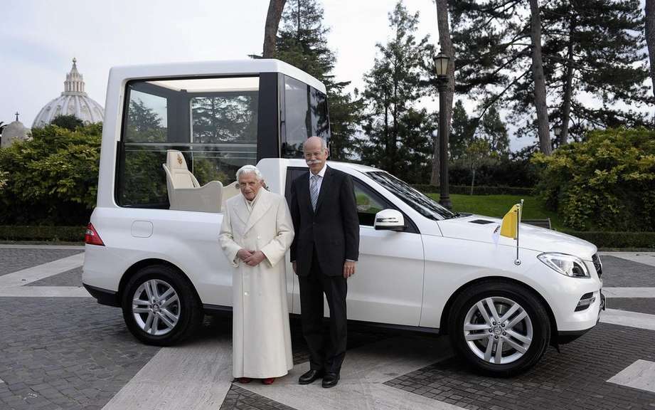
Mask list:
[{"label": "tall bare tree trunk directly behind the street lamp post", "polygon": [[[448,0],[435,0],[437,6],[437,28],[439,30],[439,42],[441,44],[441,52],[450,58],[448,61],[448,88],[444,93],[446,99],[446,135],[437,135],[435,142],[435,150],[432,153],[432,173],[430,174],[430,184],[437,185],[439,183],[439,142],[442,138],[448,138],[450,133],[450,122],[452,120],[452,100],[455,90],[455,59],[452,49],[452,39],[450,38],[450,28],[448,26]],[[441,128],[441,127],[440,127]]]}]

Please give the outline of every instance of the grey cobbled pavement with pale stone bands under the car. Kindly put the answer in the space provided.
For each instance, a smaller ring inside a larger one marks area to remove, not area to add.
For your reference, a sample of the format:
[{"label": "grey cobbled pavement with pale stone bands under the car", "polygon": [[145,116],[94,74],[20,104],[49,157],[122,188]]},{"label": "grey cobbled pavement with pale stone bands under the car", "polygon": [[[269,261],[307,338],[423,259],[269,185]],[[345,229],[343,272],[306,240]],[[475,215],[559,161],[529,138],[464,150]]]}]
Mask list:
[{"label": "grey cobbled pavement with pale stone bands under the car", "polygon": [[[203,409],[655,409],[651,254],[602,255],[605,287],[621,296],[608,298],[606,322],[560,353],[548,349],[518,377],[478,374],[445,337],[351,326],[342,381],[325,390],[295,382],[307,368],[297,321],[296,367],[272,387],[231,383],[229,318],[206,317],[198,337],[179,347],[140,344],[119,309],[80,297],[81,270],[67,262],[78,260],[65,258],[81,251],[0,246],[0,409],[155,408],[139,396],[166,391],[191,391],[189,407]],[[198,379],[207,360],[215,362],[211,378]]]}]

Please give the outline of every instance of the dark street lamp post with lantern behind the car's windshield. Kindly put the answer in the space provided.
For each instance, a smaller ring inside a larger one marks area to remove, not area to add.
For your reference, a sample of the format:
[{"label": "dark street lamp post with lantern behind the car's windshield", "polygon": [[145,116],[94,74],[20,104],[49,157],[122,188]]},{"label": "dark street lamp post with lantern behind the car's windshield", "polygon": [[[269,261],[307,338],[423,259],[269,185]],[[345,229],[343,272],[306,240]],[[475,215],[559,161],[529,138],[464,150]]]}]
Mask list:
[{"label": "dark street lamp post with lantern behind the car's windshield", "polygon": [[448,60],[444,53],[434,57],[437,71],[437,90],[439,90],[439,165],[440,165],[440,199],[439,203],[447,209],[452,209],[448,193],[448,125],[446,123],[445,93],[448,89]]}]

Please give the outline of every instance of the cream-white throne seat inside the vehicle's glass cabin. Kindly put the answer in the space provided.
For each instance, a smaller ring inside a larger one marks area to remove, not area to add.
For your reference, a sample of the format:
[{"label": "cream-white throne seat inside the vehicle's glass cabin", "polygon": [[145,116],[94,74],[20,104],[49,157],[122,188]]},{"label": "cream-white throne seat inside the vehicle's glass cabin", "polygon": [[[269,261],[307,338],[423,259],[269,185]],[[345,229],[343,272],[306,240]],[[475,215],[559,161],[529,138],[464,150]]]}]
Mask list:
[{"label": "cream-white throne seat inside the vehicle's glass cabin", "polygon": [[179,211],[220,212],[223,184],[211,181],[201,186],[198,179],[189,172],[186,160],[176,149],[166,151],[166,189],[169,193],[170,209]]}]

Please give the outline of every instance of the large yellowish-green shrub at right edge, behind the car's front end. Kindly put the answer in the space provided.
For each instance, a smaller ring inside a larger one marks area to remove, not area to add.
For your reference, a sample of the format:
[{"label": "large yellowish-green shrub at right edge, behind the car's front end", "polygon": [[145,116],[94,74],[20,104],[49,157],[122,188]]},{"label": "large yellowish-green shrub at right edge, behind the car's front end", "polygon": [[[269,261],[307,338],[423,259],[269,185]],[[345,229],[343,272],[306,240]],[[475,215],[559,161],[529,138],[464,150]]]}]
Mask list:
[{"label": "large yellowish-green shrub at right edge, behind the car's front end", "polygon": [[536,191],[578,231],[655,231],[655,131],[597,130],[536,154]]}]

